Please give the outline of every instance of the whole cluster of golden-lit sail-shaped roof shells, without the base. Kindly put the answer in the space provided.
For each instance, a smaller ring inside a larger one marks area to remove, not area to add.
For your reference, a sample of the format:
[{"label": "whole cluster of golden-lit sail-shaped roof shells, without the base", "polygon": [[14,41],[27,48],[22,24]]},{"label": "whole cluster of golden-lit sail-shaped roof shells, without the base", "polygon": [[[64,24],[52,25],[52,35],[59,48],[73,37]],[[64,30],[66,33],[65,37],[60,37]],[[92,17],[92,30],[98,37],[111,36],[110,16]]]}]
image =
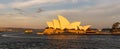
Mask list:
[{"label": "whole cluster of golden-lit sail-shaped roof shells, without the base", "polygon": [[48,27],[52,27],[54,29],[80,29],[86,31],[91,25],[80,26],[81,22],[73,22],[70,23],[65,17],[58,15],[58,20],[53,19],[52,22],[47,22]]}]

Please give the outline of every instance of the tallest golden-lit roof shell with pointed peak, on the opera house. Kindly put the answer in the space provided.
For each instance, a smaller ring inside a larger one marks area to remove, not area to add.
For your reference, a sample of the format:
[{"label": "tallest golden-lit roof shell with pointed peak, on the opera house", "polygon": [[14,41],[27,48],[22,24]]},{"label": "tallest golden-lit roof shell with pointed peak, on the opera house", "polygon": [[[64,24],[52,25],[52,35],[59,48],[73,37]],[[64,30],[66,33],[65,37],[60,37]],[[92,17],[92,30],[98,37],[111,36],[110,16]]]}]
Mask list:
[{"label": "tallest golden-lit roof shell with pointed peak, on the opera house", "polygon": [[60,21],[60,28],[61,29],[65,29],[66,26],[68,26],[70,24],[70,22],[63,16],[58,15],[58,19]]}]

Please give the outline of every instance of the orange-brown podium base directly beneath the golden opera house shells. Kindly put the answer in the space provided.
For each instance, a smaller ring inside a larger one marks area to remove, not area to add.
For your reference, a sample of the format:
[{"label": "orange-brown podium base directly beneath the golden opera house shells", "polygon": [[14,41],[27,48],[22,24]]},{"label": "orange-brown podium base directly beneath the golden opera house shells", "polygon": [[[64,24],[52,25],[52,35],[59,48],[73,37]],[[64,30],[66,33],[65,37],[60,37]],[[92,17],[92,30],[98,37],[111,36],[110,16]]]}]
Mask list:
[{"label": "orange-brown podium base directly beneath the golden opera house shells", "polygon": [[38,35],[86,35],[86,34],[98,34],[96,31],[81,31],[81,30],[60,30],[60,29],[45,29]]}]

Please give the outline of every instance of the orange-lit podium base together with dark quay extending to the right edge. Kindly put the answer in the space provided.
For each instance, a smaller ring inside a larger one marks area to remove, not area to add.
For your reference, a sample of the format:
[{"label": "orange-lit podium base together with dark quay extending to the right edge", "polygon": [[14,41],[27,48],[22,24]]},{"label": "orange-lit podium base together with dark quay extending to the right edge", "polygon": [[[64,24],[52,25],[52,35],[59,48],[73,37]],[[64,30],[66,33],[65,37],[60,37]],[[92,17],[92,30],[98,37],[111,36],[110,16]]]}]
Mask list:
[{"label": "orange-lit podium base together with dark quay extending to the right edge", "polygon": [[38,35],[120,35],[120,32],[106,33],[99,31],[81,31],[81,30],[60,30],[60,29],[45,29],[44,32],[37,33]]}]

